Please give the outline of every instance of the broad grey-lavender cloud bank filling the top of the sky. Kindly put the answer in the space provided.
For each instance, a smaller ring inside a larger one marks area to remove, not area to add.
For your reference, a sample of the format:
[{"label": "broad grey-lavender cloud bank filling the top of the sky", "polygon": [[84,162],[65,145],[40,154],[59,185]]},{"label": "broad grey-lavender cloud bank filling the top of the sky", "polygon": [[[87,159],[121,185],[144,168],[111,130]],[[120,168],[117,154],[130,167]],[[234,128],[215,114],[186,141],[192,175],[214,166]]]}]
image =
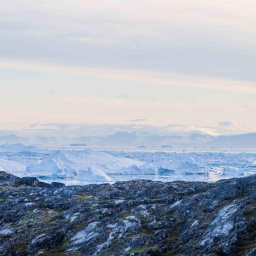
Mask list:
[{"label": "broad grey-lavender cloud bank filling the top of the sky", "polygon": [[256,81],[256,4],[245,1],[9,0],[0,58]]}]

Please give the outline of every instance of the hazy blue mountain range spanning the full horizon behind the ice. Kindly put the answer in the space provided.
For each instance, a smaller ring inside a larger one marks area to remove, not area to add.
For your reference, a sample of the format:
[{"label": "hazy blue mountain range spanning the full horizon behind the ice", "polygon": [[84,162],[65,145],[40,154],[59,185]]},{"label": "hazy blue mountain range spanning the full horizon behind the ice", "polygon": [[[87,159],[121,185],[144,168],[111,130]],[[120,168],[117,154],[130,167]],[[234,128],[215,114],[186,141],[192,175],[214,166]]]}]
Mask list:
[{"label": "hazy blue mountain range spanning the full horizon behind the ice", "polygon": [[139,132],[116,132],[108,136],[78,136],[73,138],[34,136],[23,137],[15,134],[0,136],[0,144],[38,146],[87,146],[102,148],[233,148],[255,149],[256,133],[239,135],[211,136],[202,132],[177,132],[169,135],[156,135]]}]

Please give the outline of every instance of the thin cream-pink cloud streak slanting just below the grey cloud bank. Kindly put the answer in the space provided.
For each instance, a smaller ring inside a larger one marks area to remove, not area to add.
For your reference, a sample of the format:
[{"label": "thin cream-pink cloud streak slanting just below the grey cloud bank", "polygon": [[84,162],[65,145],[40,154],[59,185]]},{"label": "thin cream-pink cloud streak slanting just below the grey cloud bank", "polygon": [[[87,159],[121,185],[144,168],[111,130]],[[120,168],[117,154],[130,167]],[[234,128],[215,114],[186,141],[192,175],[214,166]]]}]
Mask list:
[{"label": "thin cream-pink cloud streak slanting just below the grey cloud bank", "polygon": [[[157,72],[134,69],[94,68],[74,65],[47,64],[46,62],[19,61],[13,59],[1,59],[0,67],[5,69],[24,71],[43,71],[59,74],[79,74],[83,76],[95,76],[124,81],[143,82],[154,84],[158,87],[189,87],[215,90],[220,92],[250,93],[256,94],[256,83],[249,81],[237,81],[232,79],[218,79],[205,76],[180,75],[170,72]],[[24,85],[25,86],[25,85]],[[126,94],[119,98],[129,98]]]}]

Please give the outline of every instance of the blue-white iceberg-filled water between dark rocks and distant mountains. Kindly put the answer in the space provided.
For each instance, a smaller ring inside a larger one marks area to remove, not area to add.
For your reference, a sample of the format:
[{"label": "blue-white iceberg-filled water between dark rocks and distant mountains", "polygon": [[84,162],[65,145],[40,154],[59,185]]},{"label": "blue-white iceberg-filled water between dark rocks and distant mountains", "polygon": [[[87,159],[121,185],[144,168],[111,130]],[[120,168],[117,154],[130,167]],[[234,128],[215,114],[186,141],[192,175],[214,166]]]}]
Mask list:
[{"label": "blue-white iceberg-filled water between dark rocks and distant mountains", "polygon": [[0,145],[0,171],[65,184],[216,181],[256,174],[255,153],[97,151]]}]

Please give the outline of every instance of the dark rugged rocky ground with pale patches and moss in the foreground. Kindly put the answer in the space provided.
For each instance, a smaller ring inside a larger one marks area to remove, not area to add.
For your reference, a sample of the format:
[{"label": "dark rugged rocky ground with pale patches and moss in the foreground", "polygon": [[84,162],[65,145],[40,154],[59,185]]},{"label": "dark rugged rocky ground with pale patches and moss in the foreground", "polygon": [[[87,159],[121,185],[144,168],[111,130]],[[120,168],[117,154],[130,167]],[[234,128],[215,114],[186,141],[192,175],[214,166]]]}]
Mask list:
[{"label": "dark rugged rocky ground with pale patches and moss in the foreground", "polygon": [[256,176],[65,187],[0,172],[0,255],[256,255]]}]

